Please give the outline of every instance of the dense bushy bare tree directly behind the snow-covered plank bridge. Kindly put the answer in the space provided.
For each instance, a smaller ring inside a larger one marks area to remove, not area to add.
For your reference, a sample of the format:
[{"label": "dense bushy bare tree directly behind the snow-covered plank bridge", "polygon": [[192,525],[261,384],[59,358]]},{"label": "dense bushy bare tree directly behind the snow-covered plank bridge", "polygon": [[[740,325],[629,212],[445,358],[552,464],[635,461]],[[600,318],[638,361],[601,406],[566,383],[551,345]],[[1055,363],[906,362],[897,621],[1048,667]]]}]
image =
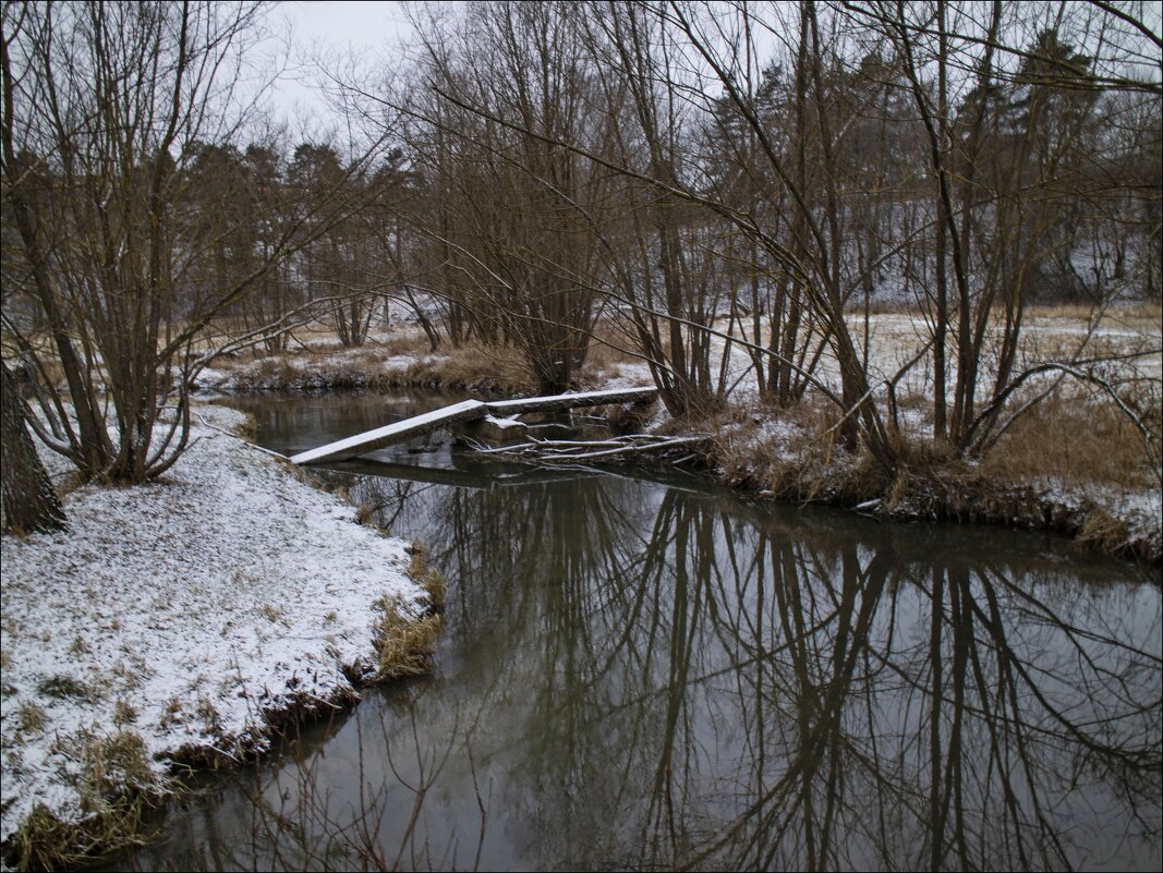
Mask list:
[{"label": "dense bushy bare tree directly behind the snow-covered plank bridge", "polygon": [[542,3],[481,5],[461,29],[434,36],[421,74],[511,124],[430,94],[411,107],[421,173],[440,192],[424,232],[454,301],[454,342],[468,314],[479,339],[520,349],[548,392],[570,385],[588,350],[598,248],[590,224],[611,189],[605,174],[549,142],[611,136],[585,72],[569,16]]}]

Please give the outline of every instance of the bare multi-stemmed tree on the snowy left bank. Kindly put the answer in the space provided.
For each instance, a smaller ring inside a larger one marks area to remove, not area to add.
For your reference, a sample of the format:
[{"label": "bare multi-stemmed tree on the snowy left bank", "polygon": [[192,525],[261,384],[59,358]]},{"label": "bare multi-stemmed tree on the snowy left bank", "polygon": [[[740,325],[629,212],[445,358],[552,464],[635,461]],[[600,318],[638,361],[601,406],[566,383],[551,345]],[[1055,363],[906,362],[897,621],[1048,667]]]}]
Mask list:
[{"label": "bare multi-stemmed tree on the snowy left bank", "polygon": [[[236,81],[258,8],[9,3],[2,15],[5,215],[38,316],[5,328],[38,377],[45,423],[30,424],[85,474],[142,481],[187,445],[186,388],[207,323],[350,203],[337,185],[273,230],[249,271],[207,276],[206,250],[233,230],[198,227],[188,171],[245,121]],[[216,203],[198,194],[204,215],[231,215],[228,186]]]}]

